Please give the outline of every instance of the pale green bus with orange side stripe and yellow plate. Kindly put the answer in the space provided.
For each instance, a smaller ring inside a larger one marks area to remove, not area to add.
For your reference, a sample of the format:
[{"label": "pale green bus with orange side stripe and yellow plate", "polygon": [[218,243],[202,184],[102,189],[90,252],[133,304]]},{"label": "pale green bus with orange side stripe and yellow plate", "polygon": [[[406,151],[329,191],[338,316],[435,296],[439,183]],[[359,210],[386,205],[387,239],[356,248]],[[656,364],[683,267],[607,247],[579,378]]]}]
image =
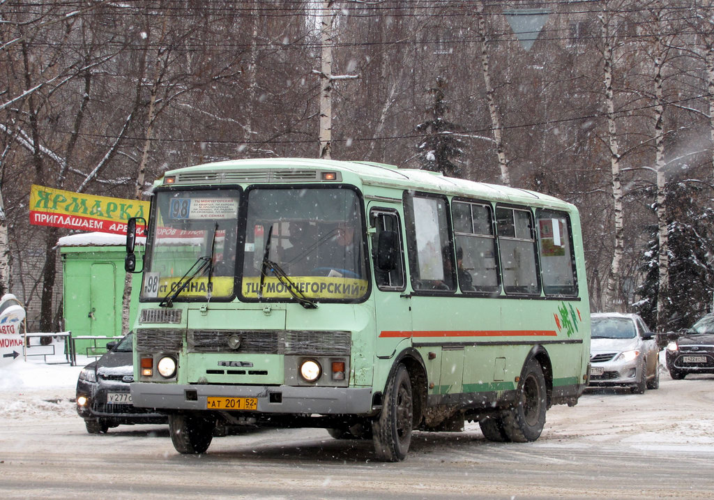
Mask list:
[{"label": "pale green bus with orange side stripe and yellow plate", "polygon": [[538,439],[587,384],[578,211],[366,161],[255,159],[156,181],[136,271],[136,406],[183,454],[240,426],[320,427],[400,461],[413,431]]}]

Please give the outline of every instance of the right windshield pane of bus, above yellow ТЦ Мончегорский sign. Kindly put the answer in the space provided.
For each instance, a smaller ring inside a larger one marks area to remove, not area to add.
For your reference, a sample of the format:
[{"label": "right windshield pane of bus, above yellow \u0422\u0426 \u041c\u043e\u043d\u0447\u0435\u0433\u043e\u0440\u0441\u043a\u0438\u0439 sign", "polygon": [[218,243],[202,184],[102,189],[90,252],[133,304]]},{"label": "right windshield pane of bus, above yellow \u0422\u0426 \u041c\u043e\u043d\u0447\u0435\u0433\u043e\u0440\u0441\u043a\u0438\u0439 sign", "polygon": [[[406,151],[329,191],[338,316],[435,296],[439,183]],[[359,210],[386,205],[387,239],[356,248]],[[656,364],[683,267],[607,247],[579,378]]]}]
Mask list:
[{"label": "right windshield pane of bus, above yellow \u0422\u0426 \u041c\u043e\u043d\u0447\u0435\u0433\u043e\u0440\u0441\u043a\u0438\u0439 sign", "polygon": [[[353,301],[367,293],[358,196],[351,189],[251,189],[241,295]],[[287,279],[281,279],[287,276]]]}]

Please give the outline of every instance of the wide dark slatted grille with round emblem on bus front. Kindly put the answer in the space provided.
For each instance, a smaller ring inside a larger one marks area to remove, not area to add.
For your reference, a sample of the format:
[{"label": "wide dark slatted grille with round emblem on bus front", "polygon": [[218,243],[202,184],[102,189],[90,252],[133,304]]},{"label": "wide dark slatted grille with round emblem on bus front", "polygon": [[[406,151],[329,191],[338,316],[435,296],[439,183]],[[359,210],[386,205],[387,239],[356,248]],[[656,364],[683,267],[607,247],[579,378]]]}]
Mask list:
[{"label": "wide dark slatted grille with round emblem on bus front", "polygon": [[[240,339],[238,349],[228,346],[232,336]],[[351,335],[348,331],[189,330],[186,342],[188,351],[197,353],[349,356]]]}]

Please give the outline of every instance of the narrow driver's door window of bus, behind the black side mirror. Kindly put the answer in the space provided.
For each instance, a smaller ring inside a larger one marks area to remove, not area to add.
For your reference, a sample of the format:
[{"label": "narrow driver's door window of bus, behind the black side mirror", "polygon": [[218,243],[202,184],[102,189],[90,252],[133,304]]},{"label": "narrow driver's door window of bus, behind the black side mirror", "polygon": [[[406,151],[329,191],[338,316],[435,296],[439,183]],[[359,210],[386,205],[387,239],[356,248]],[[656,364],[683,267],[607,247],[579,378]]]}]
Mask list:
[{"label": "narrow driver's door window of bus, behind the black side mirror", "polygon": [[401,227],[396,212],[374,209],[369,214],[372,235],[372,261],[378,289],[403,291],[404,252]]}]

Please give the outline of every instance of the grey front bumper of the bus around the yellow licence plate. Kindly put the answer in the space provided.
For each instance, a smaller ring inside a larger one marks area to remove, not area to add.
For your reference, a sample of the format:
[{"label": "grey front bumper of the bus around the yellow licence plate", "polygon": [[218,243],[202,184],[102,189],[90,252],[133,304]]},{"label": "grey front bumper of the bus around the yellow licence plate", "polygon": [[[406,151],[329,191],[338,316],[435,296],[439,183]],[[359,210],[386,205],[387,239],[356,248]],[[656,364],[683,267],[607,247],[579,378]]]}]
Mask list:
[{"label": "grey front bumper of the bus around the yellow licence plate", "polygon": [[131,384],[134,406],[206,410],[208,397],[256,398],[258,413],[370,414],[372,389],[355,387]]}]

